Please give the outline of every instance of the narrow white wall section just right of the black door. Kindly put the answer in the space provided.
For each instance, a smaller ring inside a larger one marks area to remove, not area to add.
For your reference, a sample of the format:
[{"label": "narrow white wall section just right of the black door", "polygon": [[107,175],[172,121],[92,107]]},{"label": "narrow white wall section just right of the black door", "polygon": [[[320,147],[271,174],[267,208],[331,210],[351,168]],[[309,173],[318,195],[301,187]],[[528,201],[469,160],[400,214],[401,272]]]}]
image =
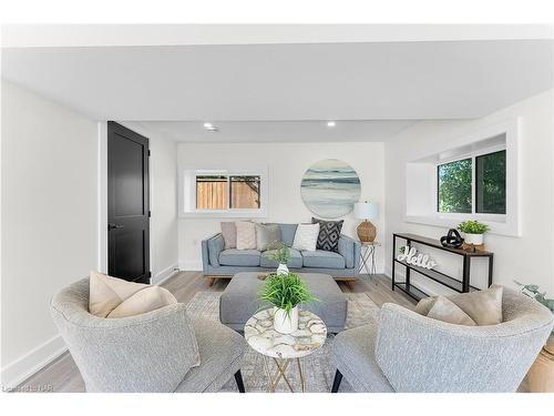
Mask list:
[{"label": "narrow white wall section just right of the black door", "polygon": [[151,180],[151,268],[152,283],[158,283],[178,264],[177,250],[177,144],[147,134]]}]

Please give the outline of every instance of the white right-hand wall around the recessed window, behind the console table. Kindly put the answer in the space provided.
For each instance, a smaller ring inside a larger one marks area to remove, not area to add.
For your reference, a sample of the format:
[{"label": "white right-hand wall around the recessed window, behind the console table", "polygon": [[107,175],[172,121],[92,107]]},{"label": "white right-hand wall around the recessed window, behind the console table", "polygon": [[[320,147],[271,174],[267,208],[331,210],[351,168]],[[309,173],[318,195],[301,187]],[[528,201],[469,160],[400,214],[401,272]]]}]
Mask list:
[{"label": "white right-hand wall around the recessed window, behind the console table", "polygon": [[[403,221],[406,195],[406,162],[413,154],[437,153],[449,140],[474,133],[495,123],[521,116],[521,237],[485,235],[485,246],[494,252],[494,282],[516,287],[513,280],[536,283],[554,293],[553,277],[553,93],[535,95],[489,116],[471,121],[420,122],[408,128],[386,145],[387,239],[386,272],[391,273],[391,240],[393,232],[411,232],[440,237],[447,229]],[[510,169],[510,168],[509,168]],[[452,222],[454,227],[458,222]],[[428,251],[425,248],[425,251]],[[453,265],[440,252],[432,252],[449,273],[461,275],[461,262]],[[403,267],[399,267],[403,270]],[[483,283],[484,264],[479,264],[475,278]],[[414,280],[418,282],[418,280]],[[442,286],[420,282],[431,293]]]}]

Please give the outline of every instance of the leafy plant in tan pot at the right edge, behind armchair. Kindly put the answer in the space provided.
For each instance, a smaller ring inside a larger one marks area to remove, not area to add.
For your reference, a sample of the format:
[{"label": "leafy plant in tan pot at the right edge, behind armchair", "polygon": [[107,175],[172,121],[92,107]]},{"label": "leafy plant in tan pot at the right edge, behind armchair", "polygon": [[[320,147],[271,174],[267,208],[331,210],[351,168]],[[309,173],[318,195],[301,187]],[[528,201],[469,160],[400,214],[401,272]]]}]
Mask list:
[{"label": "leafy plant in tan pot at the right edge, behind armchair", "polygon": [[[522,293],[533,297],[546,306],[554,314],[554,300],[546,298],[546,292],[541,292],[537,285],[522,285]],[[527,373],[527,383],[531,392],[554,393],[554,331],[536,357]]]}]

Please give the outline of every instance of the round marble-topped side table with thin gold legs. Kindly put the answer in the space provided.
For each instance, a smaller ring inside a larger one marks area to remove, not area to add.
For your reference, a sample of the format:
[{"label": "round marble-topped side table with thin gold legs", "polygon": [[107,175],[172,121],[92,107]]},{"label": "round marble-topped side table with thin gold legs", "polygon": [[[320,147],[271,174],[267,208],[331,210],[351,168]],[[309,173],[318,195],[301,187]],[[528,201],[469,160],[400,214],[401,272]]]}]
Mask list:
[{"label": "round marble-topped side table with thin gold legs", "polygon": [[[296,362],[300,376],[301,390],[306,390],[304,357],[321,347],[327,339],[327,326],[319,316],[308,311],[298,311],[298,329],[291,334],[281,334],[274,329],[275,308],[260,311],[252,316],[244,327],[248,345],[264,356],[264,367],[268,377],[267,392],[275,392],[279,382],[286,383],[295,392],[287,368]],[[277,372],[271,371],[270,363]]]}]

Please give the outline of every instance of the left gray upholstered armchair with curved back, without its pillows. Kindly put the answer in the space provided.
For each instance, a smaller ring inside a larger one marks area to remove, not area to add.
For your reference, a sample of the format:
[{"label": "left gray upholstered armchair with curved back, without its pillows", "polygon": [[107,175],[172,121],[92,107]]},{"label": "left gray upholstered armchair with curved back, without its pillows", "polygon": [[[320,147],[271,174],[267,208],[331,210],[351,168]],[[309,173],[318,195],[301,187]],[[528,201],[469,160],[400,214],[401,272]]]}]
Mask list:
[{"label": "left gray upholstered armchair with curved back, without its pillows", "polygon": [[[217,392],[240,367],[246,342],[175,304],[124,318],[89,313],[89,278],[55,295],[51,313],[88,392]],[[201,365],[191,368],[197,351]],[[188,365],[187,365],[188,363]]]}]

